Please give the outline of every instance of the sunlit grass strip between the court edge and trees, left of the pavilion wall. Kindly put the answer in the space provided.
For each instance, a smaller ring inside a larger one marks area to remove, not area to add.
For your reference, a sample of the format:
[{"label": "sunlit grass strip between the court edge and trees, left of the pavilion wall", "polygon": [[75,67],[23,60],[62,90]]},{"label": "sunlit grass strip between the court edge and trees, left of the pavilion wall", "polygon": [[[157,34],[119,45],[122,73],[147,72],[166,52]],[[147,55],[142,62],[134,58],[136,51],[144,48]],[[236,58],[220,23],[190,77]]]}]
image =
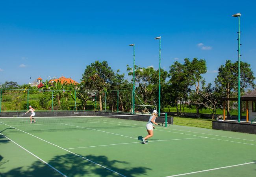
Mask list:
[{"label": "sunlit grass strip between the court edge and trees, left of the pavilion wall", "polygon": [[211,119],[174,117],[173,124],[189,126],[189,127],[202,127],[202,128],[212,129]]}]

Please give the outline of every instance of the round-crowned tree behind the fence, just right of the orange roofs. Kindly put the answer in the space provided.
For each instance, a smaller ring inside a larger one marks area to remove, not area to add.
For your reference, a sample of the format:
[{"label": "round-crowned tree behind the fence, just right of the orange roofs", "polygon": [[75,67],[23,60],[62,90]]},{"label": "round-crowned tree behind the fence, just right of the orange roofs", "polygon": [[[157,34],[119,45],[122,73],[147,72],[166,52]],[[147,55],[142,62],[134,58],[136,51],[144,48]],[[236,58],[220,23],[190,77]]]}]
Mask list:
[{"label": "round-crowned tree behind the fence, just right of the orange roofs", "polygon": [[[81,85],[85,89],[101,93],[107,89],[113,81],[114,72],[107,61],[95,61],[91,65],[87,65],[81,79]],[[102,96],[99,94],[100,110],[102,110]]]}]

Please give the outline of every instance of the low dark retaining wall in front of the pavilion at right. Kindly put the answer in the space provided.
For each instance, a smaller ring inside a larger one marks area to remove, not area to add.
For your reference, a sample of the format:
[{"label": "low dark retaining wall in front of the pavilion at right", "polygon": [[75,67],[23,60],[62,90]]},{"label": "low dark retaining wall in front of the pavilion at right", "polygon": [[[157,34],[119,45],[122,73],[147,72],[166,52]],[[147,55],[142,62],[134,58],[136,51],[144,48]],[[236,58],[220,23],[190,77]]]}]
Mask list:
[{"label": "low dark retaining wall in front of the pavilion at right", "polygon": [[256,124],[244,122],[213,121],[212,129],[256,134]]}]

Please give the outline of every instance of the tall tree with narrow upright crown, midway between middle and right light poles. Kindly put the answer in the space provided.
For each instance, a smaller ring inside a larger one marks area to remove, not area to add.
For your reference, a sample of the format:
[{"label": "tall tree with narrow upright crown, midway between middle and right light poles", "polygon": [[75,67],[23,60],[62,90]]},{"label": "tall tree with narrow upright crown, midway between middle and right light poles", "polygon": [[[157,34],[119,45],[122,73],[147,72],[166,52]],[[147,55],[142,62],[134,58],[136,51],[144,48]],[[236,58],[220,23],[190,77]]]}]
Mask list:
[{"label": "tall tree with narrow upright crown, midway between middle and right light poles", "polygon": [[[192,81],[191,85],[195,86],[196,94],[199,94],[200,83],[204,82],[202,74],[207,72],[206,61],[204,59],[198,60],[197,58],[193,58],[190,62],[188,58],[185,58],[184,65],[186,66],[189,78]],[[197,109],[197,117],[199,118],[199,105],[195,105]]]}]

